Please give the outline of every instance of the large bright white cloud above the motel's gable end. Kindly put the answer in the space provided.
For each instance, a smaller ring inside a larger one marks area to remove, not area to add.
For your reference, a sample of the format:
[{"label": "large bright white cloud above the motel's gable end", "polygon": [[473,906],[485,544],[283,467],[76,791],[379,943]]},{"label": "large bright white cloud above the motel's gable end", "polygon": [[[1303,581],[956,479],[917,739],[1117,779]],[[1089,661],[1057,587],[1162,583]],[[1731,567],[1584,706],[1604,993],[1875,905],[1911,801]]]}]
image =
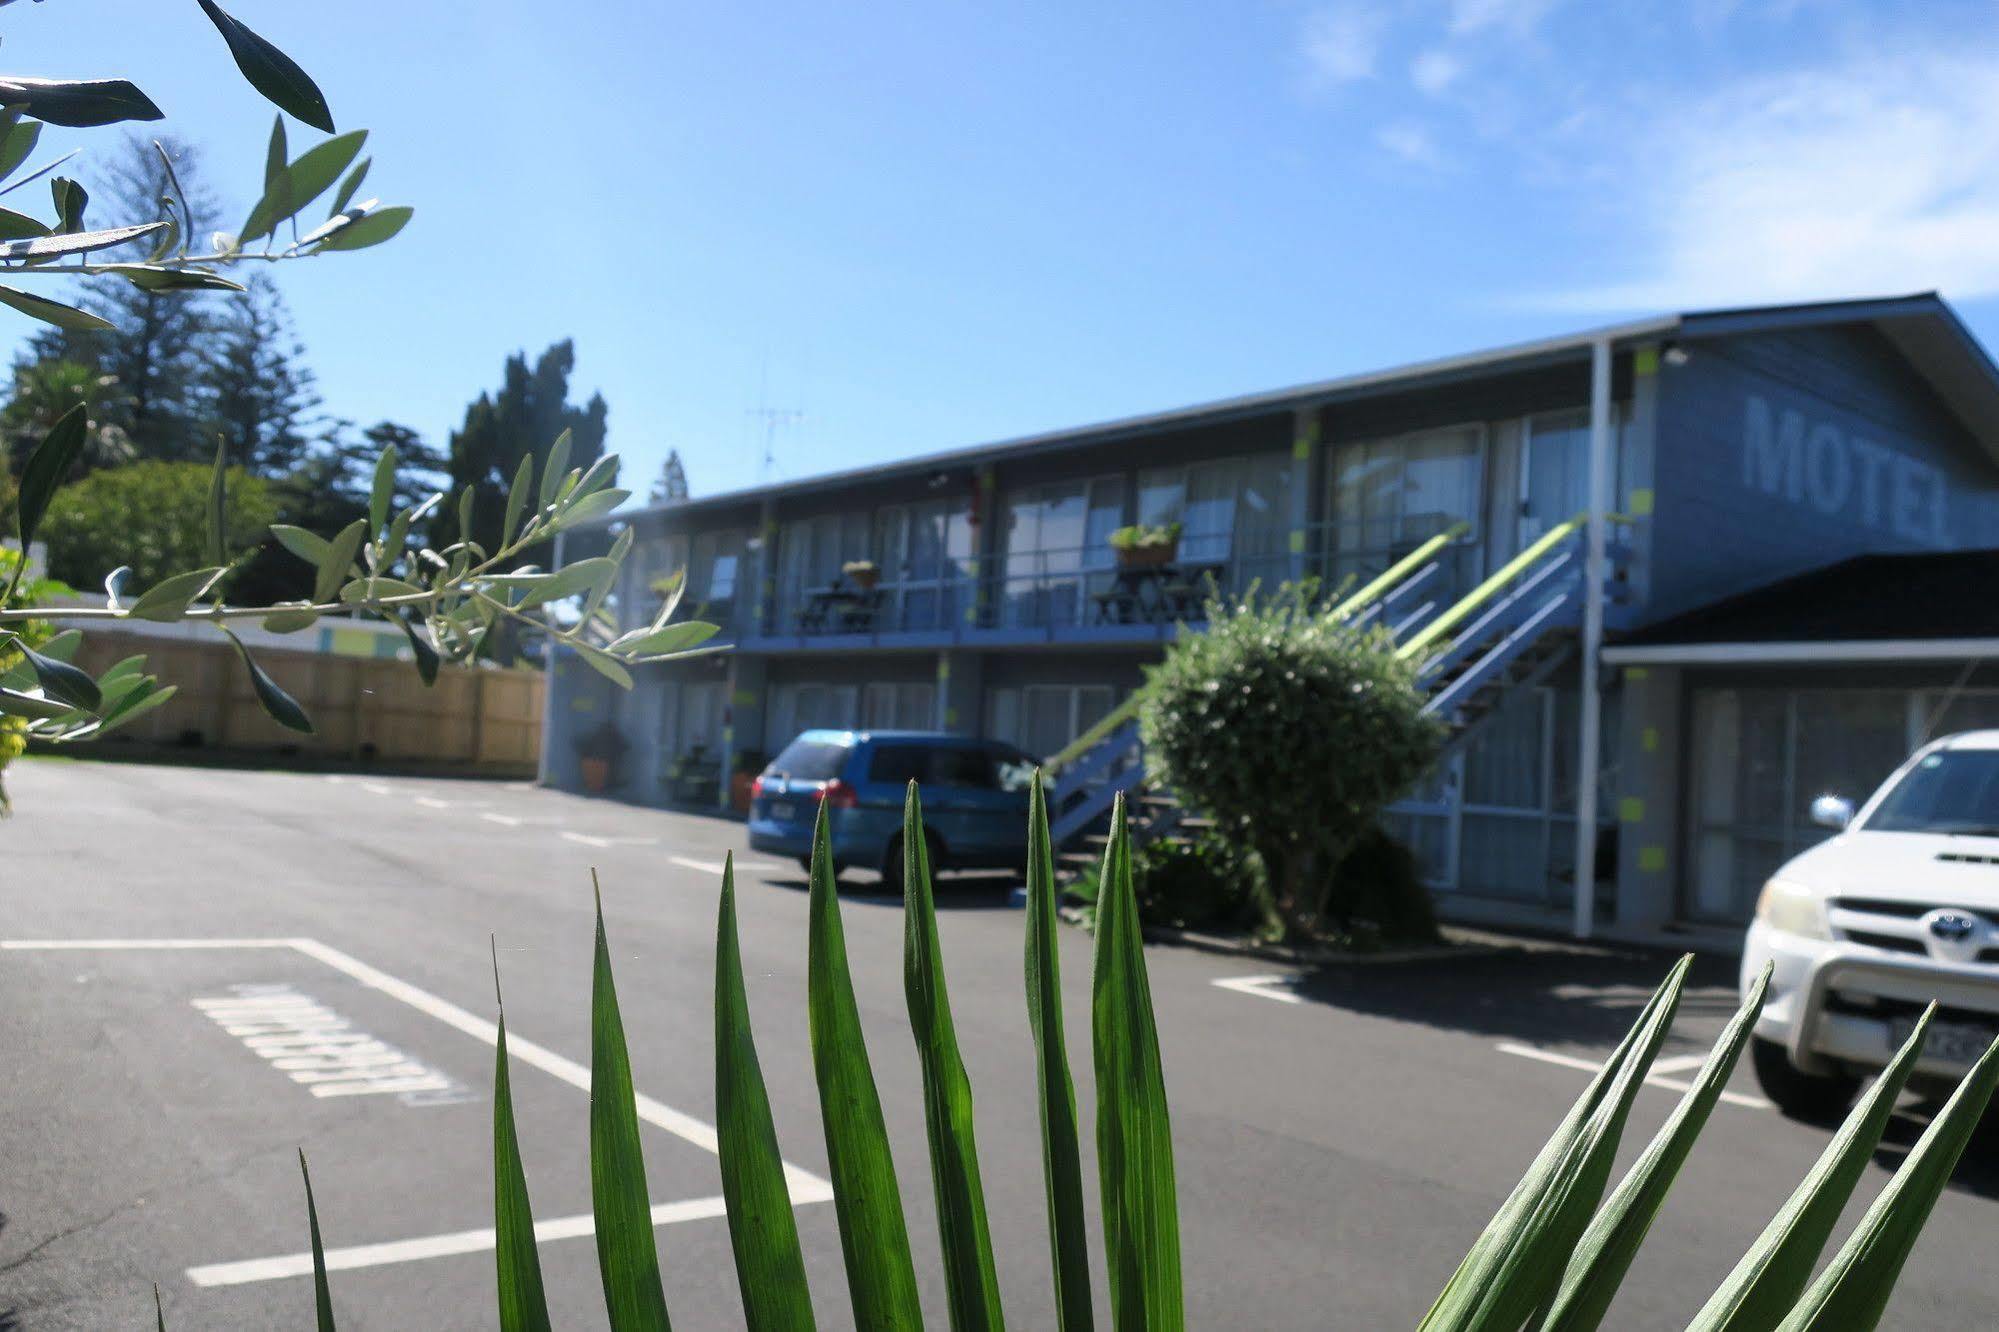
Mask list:
[{"label": "large bright white cloud above the motel's gable end", "polygon": [[1999,54],[1883,54],[1623,124],[1637,268],[1563,308],[1999,294]]}]

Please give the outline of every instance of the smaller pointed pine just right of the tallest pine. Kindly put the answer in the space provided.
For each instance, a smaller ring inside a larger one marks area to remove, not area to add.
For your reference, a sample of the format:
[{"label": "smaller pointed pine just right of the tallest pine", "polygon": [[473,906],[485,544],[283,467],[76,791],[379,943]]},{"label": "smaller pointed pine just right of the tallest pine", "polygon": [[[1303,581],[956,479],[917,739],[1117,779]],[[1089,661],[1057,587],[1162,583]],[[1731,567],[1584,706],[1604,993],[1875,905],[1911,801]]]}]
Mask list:
[{"label": "smaller pointed pine just right of the tallest pine", "polygon": [[312,446],[320,394],[304,354],[270,276],[254,274],[218,302],[198,380],[206,434],[220,434],[230,458],[258,476],[290,474]]}]

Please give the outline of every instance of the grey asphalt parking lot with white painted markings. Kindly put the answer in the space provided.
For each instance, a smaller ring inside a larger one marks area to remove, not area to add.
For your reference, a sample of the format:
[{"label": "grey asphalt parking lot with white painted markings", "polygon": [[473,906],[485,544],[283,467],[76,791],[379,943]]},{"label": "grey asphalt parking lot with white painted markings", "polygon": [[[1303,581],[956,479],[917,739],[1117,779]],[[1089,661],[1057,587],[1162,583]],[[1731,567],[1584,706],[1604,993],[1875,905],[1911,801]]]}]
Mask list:
[{"label": "grey asphalt parking lot with white painted markings", "polygon": [[[492,956],[558,1326],[604,1326],[588,1232],[590,874],[642,1102],[676,1326],[740,1326],[712,1154],[714,908],[742,866],[744,962],[824,1326],[846,1286],[804,1020],[804,876],[724,820],[502,782],[28,762],[0,824],[0,1310],[20,1328],[310,1318],[312,1162],[344,1328],[492,1326]],[[1015,1326],[1047,1326],[1021,918],[946,880],[948,976]],[[848,946],[944,1324],[902,918],[854,876]],[[492,944],[490,944],[492,940]],[[1163,1034],[1189,1318],[1413,1326],[1667,958],[1531,948],[1295,974],[1147,954]],[[1063,938],[1083,1122],[1089,940]],[[1629,1158],[1733,1008],[1703,960]],[[1853,1214],[1913,1142],[1901,1118]],[[1609,1326],[1679,1328],[1825,1144],[1739,1072]],[[1889,1310],[1999,1324],[1999,1168],[1975,1148]],[[1091,1170],[1085,1162],[1085,1170]],[[1093,1170],[1091,1170],[1093,1178]],[[1101,1284],[1101,1274],[1099,1274]]]}]

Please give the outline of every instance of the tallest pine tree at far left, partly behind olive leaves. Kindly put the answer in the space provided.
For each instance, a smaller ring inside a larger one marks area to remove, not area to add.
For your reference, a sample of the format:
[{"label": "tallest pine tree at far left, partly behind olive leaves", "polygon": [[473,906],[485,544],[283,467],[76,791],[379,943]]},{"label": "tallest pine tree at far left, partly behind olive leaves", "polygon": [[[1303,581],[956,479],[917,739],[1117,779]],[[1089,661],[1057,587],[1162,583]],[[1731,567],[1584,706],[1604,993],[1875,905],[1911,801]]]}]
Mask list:
[{"label": "tallest pine tree at far left, partly behind olive leaves", "polygon": [[[162,150],[172,158],[168,172]],[[174,188],[174,178],[180,190]],[[92,180],[100,196],[92,216],[104,224],[148,222],[172,216],[182,226],[180,200],[192,214],[192,234],[206,236],[220,208],[202,182],[200,154],[178,138],[126,136],[124,146]],[[184,190],[184,194],[182,194]],[[174,200],[168,204],[168,200]],[[142,260],[148,240],[106,250],[102,260]],[[106,402],[104,424],[132,440],[140,458],[198,462],[214,456],[214,440],[204,440],[200,404],[200,342],[214,302],[204,292],[146,292],[128,282],[90,282],[76,304],[110,320],[110,332],[66,332],[46,328],[30,342],[26,362],[70,360],[90,366],[118,384]]]}]

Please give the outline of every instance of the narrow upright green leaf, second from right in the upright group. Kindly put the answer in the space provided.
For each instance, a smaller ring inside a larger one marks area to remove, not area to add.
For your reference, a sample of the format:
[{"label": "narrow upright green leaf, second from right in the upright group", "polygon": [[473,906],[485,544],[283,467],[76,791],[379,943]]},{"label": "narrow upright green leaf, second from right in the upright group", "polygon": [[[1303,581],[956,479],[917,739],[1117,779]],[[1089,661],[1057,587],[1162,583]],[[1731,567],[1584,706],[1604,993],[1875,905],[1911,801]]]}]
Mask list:
[{"label": "narrow upright green leaf, second from right in the upright group", "polygon": [[1047,1186],[1047,1248],[1055,1272],[1055,1326],[1089,1332],[1089,1234],[1083,1228],[1083,1160],[1075,1122],[1075,1082],[1061,1034],[1061,958],[1055,930],[1055,858],[1047,838],[1047,796],[1033,774],[1027,796],[1027,1026],[1033,1028],[1041,1100],[1041,1174]]}]

